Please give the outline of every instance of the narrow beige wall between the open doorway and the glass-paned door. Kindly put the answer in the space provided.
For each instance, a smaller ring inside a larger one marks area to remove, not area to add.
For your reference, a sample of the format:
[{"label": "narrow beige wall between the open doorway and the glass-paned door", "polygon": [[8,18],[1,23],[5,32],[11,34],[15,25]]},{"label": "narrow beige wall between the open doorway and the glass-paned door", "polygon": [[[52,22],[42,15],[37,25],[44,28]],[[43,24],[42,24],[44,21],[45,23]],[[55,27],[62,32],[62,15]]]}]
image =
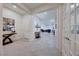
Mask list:
[{"label": "narrow beige wall between the open doorway and the glass-paned door", "polygon": [[63,41],[63,20],[64,20],[64,6],[57,8],[57,29],[56,29],[56,47],[59,53],[62,54],[62,41]]}]

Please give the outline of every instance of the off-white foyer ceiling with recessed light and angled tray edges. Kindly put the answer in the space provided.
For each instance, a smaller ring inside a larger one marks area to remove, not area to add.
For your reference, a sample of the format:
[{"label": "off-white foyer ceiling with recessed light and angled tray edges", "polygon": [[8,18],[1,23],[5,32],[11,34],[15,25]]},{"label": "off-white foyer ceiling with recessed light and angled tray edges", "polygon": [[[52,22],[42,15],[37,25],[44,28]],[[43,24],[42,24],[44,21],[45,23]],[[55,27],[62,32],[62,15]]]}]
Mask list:
[{"label": "off-white foyer ceiling with recessed light and angled tray edges", "polygon": [[[9,8],[21,15],[25,15],[26,13],[34,14],[48,9],[57,8],[62,4],[61,3],[4,3],[3,5],[4,7]],[[16,5],[16,8],[14,8],[13,5]]]}]

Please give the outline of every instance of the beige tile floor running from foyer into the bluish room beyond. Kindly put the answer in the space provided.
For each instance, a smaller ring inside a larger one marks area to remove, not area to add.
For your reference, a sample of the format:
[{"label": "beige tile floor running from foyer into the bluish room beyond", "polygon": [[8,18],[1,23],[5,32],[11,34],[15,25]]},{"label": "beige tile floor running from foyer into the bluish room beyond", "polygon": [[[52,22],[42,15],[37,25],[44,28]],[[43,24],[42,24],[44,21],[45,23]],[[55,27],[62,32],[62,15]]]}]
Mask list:
[{"label": "beige tile floor running from foyer into the bluish room beyond", "polygon": [[51,33],[41,33],[40,39],[29,41],[19,39],[3,47],[5,56],[58,56],[55,37]]}]

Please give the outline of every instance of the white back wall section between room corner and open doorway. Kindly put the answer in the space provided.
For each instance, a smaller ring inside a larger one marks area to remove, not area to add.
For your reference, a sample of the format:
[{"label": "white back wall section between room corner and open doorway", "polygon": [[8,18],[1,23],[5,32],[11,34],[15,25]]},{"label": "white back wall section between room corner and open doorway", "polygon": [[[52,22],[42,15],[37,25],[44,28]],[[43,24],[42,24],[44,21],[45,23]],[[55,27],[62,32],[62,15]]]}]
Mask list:
[{"label": "white back wall section between room corner and open doorway", "polygon": [[34,30],[33,30],[32,15],[28,14],[24,15],[22,21],[23,21],[23,28],[22,28],[23,37],[30,39],[30,41],[33,40]]}]

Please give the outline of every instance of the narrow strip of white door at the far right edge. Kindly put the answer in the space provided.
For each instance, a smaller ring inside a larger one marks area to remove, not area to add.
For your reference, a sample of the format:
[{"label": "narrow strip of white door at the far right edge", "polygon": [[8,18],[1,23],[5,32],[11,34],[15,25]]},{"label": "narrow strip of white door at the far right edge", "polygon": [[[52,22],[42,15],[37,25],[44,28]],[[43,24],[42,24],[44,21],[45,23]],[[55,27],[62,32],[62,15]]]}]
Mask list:
[{"label": "narrow strip of white door at the far right edge", "polygon": [[76,55],[79,56],[79,4],[76,4]]}]

